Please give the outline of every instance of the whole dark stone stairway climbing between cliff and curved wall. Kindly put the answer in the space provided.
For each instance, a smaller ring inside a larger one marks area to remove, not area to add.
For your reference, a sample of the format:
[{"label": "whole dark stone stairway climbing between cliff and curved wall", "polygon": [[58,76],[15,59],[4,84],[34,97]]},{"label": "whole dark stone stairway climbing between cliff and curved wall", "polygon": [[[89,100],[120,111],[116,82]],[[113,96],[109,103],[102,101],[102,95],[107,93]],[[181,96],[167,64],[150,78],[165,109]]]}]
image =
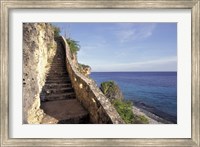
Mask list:
[{"label": "whole dark stone stairway climbing between cliff and curved wall", "polygon": [[65,63],[65,50],[59,40],[57,52],[42,89],[41,109],[46,116],[43,124],[89,123],[88,112],[77,101]]}]

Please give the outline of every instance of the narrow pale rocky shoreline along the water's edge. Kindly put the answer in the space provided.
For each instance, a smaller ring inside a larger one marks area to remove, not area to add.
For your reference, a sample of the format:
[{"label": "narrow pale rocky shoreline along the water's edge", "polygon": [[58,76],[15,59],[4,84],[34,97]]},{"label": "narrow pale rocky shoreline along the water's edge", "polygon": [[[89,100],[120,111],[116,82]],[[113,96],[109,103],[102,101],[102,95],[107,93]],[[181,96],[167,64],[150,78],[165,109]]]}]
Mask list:
[{"label": "narrow pale rocky shoreline along the water's edge", "polygon": [[169,122],[167,120],[164,120],[163,118],[146,111],[142,108],[139,108],[137,106],[132,107],[133,113],[136,115],[143,115],[149,120],[149,124],[173,124],[172,122]]}]

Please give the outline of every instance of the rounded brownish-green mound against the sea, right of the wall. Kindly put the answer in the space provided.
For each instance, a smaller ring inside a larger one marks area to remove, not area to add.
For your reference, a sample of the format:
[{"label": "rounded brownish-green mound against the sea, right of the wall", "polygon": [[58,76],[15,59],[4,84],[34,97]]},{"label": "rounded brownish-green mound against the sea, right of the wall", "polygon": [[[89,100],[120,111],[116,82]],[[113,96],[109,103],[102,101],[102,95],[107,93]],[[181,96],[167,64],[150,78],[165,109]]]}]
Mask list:
[{"label": "rounded brownish-green mound against the sea, right of the wall", "polygon": [[110,101],[114,99],[119,99],[119,100],[124,99],[124,96],[119,86],[114,81],[106,81],[106,82],[101,83],[100,89]]}]

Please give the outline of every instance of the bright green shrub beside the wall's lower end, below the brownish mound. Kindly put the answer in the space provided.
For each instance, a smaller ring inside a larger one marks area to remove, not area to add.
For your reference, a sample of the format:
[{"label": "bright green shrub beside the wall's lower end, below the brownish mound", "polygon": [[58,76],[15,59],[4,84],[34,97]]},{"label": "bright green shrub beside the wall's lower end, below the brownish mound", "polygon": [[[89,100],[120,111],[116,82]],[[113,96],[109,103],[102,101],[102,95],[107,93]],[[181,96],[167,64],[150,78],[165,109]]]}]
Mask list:
[{"label": "bright green shrub beside the wall's lower end, below the brownish mound", "polygon": [[130,101],[121,101],[119,99],[115,99],[112,101],[112,104],[125,123],[133,123],[134,114],[132,111],[132,103]]}]

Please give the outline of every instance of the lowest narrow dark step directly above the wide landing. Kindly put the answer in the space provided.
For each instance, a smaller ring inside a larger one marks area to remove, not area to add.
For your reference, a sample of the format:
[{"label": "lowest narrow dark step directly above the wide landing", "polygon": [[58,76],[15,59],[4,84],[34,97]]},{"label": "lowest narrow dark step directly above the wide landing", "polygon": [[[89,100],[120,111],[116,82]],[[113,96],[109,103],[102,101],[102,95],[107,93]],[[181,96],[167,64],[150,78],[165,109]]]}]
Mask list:
[{"label": "lowest narrow dark step directly above the wide landing", "polygon": [[75,99],[76,95],[74,92],[68,93],[59,93],[59,94],[51,94],[41,97],[41,101],[58,101],[58,100],[68,100],[68,99]]}]

